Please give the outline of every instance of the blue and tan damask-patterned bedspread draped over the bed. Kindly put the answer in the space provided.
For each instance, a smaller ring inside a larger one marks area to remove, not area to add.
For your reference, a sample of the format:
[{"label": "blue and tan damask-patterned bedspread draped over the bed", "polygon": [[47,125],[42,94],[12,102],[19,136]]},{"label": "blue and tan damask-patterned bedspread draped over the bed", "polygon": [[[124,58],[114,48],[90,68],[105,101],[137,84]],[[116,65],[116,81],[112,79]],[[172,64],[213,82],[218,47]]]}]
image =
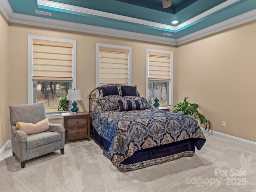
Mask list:
[{"label": "blue and tan damask-patterned bedspread draped over the bed", "polygon": [[91,122],[96,132],[111,145],[104,150],[114,166],[121,164],[134,152],[169,144],[188,138],[202,138],[195,142],[198,150],[206,141],[196,121],[182,114],[149,108],[119,112],[103,111],[98,104],[91,115]]}]

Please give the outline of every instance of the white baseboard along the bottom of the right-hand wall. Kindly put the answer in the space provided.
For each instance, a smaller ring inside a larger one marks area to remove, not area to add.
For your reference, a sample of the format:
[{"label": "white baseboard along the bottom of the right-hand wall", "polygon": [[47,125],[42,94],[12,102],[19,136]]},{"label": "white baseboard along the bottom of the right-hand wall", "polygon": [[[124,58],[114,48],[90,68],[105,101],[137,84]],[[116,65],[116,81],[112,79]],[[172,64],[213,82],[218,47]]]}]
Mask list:
[{"label": "white baseboard along the bottom of the right-hand wall", "polygon": [[231,140],[231,141],[234,141],[234,142],[237,142],[237,143],[240,143],[240,144],[244,144],[244,145],[256,148],[256,142],[246,140],[246,139],[242,139],[242,138],[235,137],[235,136],[231,136],[231,135],[228,135],[228,134],[220,133],[220,132],[217,132],[217,131],[214,131],[214,130],[206,131],[204,128],[202,128],[202,127],[200,127],[200,128],[206,134],[215,135],[215,136],[227,139],[227,140]]}]

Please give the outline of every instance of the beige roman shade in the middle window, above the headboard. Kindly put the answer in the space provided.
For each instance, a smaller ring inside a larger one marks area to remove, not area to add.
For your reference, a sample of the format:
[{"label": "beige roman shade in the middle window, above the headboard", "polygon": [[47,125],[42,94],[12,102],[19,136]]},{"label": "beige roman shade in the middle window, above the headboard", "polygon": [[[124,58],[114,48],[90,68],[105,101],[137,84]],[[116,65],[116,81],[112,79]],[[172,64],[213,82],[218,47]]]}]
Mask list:
[{"label": "beige roman shade in the middle window, above the headboard", "polygon": [[113,83],[128,85],[128,51],[100,46],[100,86]]}]

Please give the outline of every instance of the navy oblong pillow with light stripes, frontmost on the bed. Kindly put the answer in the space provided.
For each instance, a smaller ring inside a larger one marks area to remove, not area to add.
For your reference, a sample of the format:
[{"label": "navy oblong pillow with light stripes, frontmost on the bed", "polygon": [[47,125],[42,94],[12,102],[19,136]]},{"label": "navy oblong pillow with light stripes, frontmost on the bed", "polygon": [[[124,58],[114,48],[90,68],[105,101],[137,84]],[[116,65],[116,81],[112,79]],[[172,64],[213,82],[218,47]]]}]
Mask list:
[{"label": "navy oblong pillow with light stripes, frontmost on the bed", "polygon": [[119,99],[119,111],[144,110],[142,100]]}]

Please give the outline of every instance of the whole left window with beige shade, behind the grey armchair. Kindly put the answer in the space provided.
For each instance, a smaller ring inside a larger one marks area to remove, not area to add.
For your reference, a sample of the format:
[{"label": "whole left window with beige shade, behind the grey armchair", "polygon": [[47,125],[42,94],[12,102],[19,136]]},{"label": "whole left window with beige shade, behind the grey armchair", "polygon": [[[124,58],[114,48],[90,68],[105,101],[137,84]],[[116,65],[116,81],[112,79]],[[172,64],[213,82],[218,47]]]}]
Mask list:
[{"label": "whole left window with beige shade, behind the grey armchair", "polygon": [[43,102],[47,118],[61,118],[70,108],[62,100],[74,88],[76,41],[29,35],[28,103]]}]

